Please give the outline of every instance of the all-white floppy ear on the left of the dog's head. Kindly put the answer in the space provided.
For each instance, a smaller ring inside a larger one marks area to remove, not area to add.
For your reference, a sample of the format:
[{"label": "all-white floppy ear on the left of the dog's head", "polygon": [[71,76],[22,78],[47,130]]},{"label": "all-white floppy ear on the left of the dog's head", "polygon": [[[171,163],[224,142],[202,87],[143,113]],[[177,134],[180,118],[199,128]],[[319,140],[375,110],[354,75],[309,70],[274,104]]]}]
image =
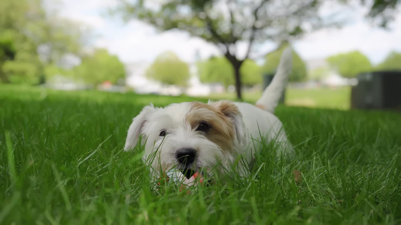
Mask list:
[{"label": "all-white floppy ear on the left of the dog's head", "polygon": [[146,121],[148,121],[148,118],[154,112],[156,112],[156,108],[154,108],[153,105],[145,106],[144,108],[142,108],[142,111],[139,113],[139,115],[134,117],[134,119],[132,119],[132,124],[128,129],[128,135],[124,151],[129,151],[135,147],[135,145],[139,141],[139,135],[141,135],[142,129]]}]

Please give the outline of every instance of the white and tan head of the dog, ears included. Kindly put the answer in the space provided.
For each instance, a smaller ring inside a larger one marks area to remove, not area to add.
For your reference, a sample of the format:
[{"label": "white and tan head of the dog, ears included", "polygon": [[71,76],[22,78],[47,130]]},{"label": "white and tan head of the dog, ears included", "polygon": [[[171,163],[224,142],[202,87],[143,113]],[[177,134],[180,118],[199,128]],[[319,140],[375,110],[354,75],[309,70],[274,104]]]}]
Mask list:
[{"label": "white and tan head of the dog, ears included", "polygon": [[227,166],[234,160],[235,146],[245,141],[241,112],[230,101],[145,106],[128,129],[125,151],[136,146],[140,135],[143,158],[156,171]]}]

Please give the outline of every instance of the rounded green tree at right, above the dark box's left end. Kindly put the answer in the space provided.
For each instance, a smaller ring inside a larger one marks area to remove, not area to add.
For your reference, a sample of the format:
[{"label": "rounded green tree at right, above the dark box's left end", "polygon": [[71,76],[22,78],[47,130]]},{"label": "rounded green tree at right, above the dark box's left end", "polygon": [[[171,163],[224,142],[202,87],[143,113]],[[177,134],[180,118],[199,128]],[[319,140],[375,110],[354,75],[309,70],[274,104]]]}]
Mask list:
[{"label": "rounded green tree at right, above the dark box's left end", "polygon": [[337,54],[327,58],[327,62],[346,78],[356,77],[361,72],[372,69],[369,59],[359,51]]}]

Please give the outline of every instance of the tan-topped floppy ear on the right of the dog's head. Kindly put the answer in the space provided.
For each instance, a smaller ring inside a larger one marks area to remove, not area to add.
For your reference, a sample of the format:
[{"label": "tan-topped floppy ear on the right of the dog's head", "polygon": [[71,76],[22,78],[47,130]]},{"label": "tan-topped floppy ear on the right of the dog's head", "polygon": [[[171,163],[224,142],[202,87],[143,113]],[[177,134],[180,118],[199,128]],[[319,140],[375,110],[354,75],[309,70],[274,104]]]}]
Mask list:
[{"label": "tan-topped floppy ear on the right of the dog's head", "polygon": [[220,110],[225,117],[230,119],[234,124],[235,136],[237,141],[242,145],[246,140],[245,124],[242,119],[242,114],[239,108],[231,101],[221,100],[218,102],[209,102],[209,104],[214,104],[218,110]]}]

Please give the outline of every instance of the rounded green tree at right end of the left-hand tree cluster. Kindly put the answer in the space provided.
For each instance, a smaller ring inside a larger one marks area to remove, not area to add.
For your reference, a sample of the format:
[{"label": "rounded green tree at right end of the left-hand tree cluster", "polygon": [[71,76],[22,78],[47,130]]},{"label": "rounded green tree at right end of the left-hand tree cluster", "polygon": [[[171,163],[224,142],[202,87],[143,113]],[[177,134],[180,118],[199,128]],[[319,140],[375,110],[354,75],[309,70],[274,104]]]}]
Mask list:
[{"label": "rounded green tree at right end of the left-hand tree cluster", "polygon": [[116,84],[126,77],[124,64],[106,49],[95,49],[93,54],[82,58],[81,64],[73,68],[73,76],[89,84],[101,84],[109,81]]}]

